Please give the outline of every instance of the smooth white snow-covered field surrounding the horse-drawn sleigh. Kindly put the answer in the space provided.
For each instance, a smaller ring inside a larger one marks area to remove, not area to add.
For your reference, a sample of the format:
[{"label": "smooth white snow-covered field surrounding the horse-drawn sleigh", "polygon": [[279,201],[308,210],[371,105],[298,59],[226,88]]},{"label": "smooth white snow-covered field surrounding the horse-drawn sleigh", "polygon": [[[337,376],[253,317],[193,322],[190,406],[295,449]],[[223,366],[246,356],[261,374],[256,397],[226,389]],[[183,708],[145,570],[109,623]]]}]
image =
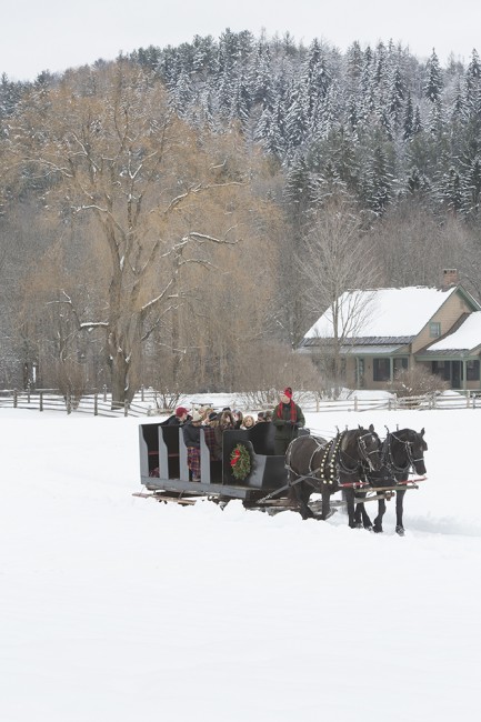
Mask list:
[{"label": "smooth white snow-covered field surrounding the horse-drawn sleigh", "polygon": [[307,412],[425,428],[399,538],[136,498],[146,420],[1,409],[0,720],[475,719],[479,413]]}]

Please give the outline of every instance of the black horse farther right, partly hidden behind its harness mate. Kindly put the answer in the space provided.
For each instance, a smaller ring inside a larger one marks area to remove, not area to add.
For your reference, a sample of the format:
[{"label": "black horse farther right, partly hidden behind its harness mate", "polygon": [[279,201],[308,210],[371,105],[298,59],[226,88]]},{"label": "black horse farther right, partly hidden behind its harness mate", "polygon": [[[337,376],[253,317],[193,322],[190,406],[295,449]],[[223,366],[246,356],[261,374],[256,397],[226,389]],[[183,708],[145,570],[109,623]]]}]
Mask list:
[{"label": "black horse farther right, partly hidden behind its harness mate", "polygon": [[[404,511],[404,494],[405,485],[403,482],[409,480],[411,470],[417,474],[425,474],[424,451],[428,451],[428,444],[424,441],[424,429],[420,432],[413,429],[401,429],[401,431],[389,431],[382,443],[382,463],[390,470],[392,478],[395,480],[393,485],[395,490],[395,532],[404,535],[403,527],[403,511]],[[375,478],[368,472],[368,479],[372,487],[377,487]],[[374,532],[382,532],[382,518],[385,513],[385,500],[378,501],[378,515],[372,525],[369,519],[364,504],[359,503],[355,508],[355,524],[364,525],[367,529],[372,529]]]}]

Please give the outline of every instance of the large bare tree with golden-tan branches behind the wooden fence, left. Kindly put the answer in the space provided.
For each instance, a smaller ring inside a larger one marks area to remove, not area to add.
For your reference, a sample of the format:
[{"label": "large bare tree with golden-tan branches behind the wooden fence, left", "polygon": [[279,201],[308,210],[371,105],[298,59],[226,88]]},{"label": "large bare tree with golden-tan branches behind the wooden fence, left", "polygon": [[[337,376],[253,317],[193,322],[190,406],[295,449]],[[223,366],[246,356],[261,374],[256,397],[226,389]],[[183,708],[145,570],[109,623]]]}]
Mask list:
[{"label": "large bare tree with golden-tan branches behind the wooden fence, left", "polygon": [[[104,308],[99,318],[78,314],[79,329],[106,330],[112,401],[129,401],[142,342],[181,301],[181,269],[207,267],[207,247],[245,232],[249,169],[177,118],[161,83],[127,61],[33,90],[10,122],[11,168],[66,223],[91,218]],[[66,290],[59,302],[72,298]]]}]

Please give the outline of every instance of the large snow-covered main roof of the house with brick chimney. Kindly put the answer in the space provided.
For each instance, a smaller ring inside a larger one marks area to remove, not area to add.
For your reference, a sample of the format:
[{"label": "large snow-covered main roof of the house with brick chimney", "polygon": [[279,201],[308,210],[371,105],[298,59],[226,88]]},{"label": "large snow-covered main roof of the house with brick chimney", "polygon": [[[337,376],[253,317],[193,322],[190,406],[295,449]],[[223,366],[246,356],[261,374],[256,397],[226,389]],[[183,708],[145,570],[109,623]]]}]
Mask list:
[{"label": "large snow-covered main roof of the house with brick chimney", "polygon": [[[347,339],[363,337],[414,338],[458,287],[441,291],[427,287],[347,291],[340,297],[340,329]],[[329,308],[309,329],[305,339],[332,338]]]}]

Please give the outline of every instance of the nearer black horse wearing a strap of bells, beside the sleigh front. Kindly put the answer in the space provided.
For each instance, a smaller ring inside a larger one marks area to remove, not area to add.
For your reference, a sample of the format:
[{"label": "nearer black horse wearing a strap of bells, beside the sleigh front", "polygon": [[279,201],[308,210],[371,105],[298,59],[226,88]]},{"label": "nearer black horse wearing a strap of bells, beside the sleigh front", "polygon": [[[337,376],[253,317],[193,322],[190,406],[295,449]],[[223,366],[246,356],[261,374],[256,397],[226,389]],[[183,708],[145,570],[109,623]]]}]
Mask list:
[{"label": "nearer black horse wearing a strap of bells, beside the sleigh front", "polygon": [[[345,493],[349,525],[355,523],[355,488],[368,482],[369,472],[382,467],[381,442],[371,424],[338,433],[331,441],[318,437],[298,437],[285,454],[289,471],[289,499],[297,503],[302,519],[314,517],[309,507],[313,492],[322,494],[321,519],[331,515],[330,497],[340,489]],[[394,483],[390,478],[389,483]],[[387,485],[387,484],[384,484]]]}]

